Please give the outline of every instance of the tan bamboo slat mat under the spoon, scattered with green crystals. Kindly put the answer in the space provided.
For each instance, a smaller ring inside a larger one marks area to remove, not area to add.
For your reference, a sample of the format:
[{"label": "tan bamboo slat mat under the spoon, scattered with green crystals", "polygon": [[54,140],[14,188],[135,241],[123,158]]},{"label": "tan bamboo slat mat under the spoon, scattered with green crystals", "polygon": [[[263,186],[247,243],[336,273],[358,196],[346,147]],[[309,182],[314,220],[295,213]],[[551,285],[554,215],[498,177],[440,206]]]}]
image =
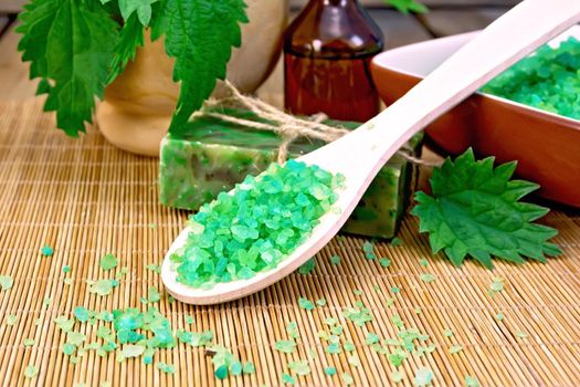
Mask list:
[{"label": "tan bamboo slat mat under the spoon, scattered with green crystals", "polygon": [[[172,375],[140,359],[118,363],[114,354],[99,357],[94,351],[75,365],[62,353],[65,337],[54,317],[70,315],[77,305],[96,311],[144,307],[140,297],[147,289],[162,289],[159,275],[145,266],[161,262],[187,213],[157,203],[156,159],[120,151],[96,130],[71,139],[53,126],[38,102],[0,105],[0,274],[14,280],[12,289],[0,291],[2,385],[221,385],[203,349],[183,344],[156,355],[156,363],[177,366]],[[426,238],[418,236],[416,221],[409,218],[400,232],[402,245],[375,242],[375,252],[391,259],[389,268],[365,259],[363,239],[338,237],[316,257],[308,275],[295,273],[253,296],[217,306],[188,306],[162,296],[159,310],[173,330],[211,328],[215,343],[255,364],[255,374],[229,377],[223,385],[281,385],[287,363],[297,359],[309,359],[312,368],[298,377],[299,385],[340,385],[345,372],[359,386],[391,384],[396,368],[386,355],[371,351],[365,337],[367,332],[396,337],[391,321],[398,313],[407,327],[429,334],[426,343],[436,345],[433,353],[403,362],[400,385],[412,385],[415,372],[428,367],[435,386],[464,385],[466,375],[482,386],[579,386],[580,216],[553,212],[544,221],[559,229],[557,242],[565,250],[548,264],[497,261],[492,272],[468,262],[460,270],[444,257],[430,257]],[[41,257],[44,244],[54,248],[53,257]],[[98,266],[106,253],[118,257],[128,274],[110,295],[101,297],[87,292],[85,280],[113,275]],[[342,258],[338,265],[329,261],[335,254]],[[419,263],[422,257],[428,266]],[[64,265],[71,266],[70,285],[63,282]],[[436,280],[422,282],[420,274],[426,272]],[[495,275],[505,279],[505,290],[492,297]],[[393,294],[393,286],[400,292]],[[327,305],[306,311],[298,307],[300,296],[324,297]],[[394,299],[391,307],[388,297]],[[357,300],[373,315],[363,327],[342,315]],[[505,317],[498,321],[500,311]],[[7,324],[9,314],[17,316],[15,325]],[[186,324],[186,315],[193,316],[193,325]],[[344,337],[356,345],[359,366],[349,364],[349,353],[324,351],[317,332],[327,317],[339,318]],[[273,345],[288,338],[285,326],[291,321],[297,323],[300,338],[296,351],[285,355]],[[94,338],[97,326],[77,323],[75,330]],[[446,328],[452,337],[444,334]],[[34,345],[24,346],[25,338]],[[450,354],[452,345],[463,351]],[[39,369],[32,379],[24,377],[28,365]],[[323,372],[328,365],[338,370],[334,377]]]}]

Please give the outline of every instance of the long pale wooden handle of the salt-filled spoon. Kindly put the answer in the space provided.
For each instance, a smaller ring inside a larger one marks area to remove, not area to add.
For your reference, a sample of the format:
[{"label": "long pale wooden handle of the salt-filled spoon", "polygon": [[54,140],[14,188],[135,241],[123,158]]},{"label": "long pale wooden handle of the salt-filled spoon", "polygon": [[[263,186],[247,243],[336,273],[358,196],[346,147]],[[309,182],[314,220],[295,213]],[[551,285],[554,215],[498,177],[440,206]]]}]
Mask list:
[{"label": "long pale wooden handle of the salt-filled spoon", "polygon": [[[411,136],[493,77],[580,21],[580,0],[525,0],[362,127],[382,166]],[[369,126],[367,126],[369,127]],[[376,154],[377,155],[377,154]]]}]

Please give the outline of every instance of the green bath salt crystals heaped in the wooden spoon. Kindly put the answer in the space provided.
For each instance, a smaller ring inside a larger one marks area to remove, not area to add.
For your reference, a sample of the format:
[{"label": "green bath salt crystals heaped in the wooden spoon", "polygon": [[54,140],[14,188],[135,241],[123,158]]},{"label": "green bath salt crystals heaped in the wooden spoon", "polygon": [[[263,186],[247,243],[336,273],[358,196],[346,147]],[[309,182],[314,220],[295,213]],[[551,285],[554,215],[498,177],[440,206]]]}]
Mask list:
[{"label": "green bath salt crystals heaped in the wooden spoon", "polygon": [[245,280],[275,268],[331,210],[344,177],[289,160],[249,176],[190,217],[186,244],[171,260],[193,287]]}]

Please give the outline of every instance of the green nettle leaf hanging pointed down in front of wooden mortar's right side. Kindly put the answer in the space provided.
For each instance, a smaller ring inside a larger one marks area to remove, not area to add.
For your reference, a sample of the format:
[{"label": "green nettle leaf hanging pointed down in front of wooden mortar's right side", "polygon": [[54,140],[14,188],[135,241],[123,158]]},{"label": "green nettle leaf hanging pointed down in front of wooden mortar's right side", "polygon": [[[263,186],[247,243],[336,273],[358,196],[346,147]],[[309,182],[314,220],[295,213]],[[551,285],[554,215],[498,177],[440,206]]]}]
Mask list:
[{"label": "green nettle leaf hanging pointed down in front of wooden mortar's right side", "polygon": [[179,133],[225,77],[232,46],[240,46],[240,23],[246,22],[243,0],[165,0],[151,23],[152,39],[166,35],[165,46],[176,59],[173,80],[181,82],[169,130]]}]

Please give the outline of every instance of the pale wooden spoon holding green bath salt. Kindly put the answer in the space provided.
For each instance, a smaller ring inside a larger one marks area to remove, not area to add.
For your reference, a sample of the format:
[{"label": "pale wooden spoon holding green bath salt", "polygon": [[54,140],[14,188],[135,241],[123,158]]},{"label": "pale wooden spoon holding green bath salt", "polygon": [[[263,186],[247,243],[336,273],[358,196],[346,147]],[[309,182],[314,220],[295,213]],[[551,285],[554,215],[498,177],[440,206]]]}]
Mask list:
[{"label": "pale wooden spoon holding green bath salt", "polygon": [[275,269],[210,290],[176,281],[169,257],[187,241],[186,228],[169,249],[161,276],[169,293],[191,304],[217,304],[255,293],[294,272],[338,232],[384,163],[411,136],[502,71],[580,21],[580,0],[526,0],[492,23],[387,111],[298,160],[342,174],[345,189],[312,236]]}]

